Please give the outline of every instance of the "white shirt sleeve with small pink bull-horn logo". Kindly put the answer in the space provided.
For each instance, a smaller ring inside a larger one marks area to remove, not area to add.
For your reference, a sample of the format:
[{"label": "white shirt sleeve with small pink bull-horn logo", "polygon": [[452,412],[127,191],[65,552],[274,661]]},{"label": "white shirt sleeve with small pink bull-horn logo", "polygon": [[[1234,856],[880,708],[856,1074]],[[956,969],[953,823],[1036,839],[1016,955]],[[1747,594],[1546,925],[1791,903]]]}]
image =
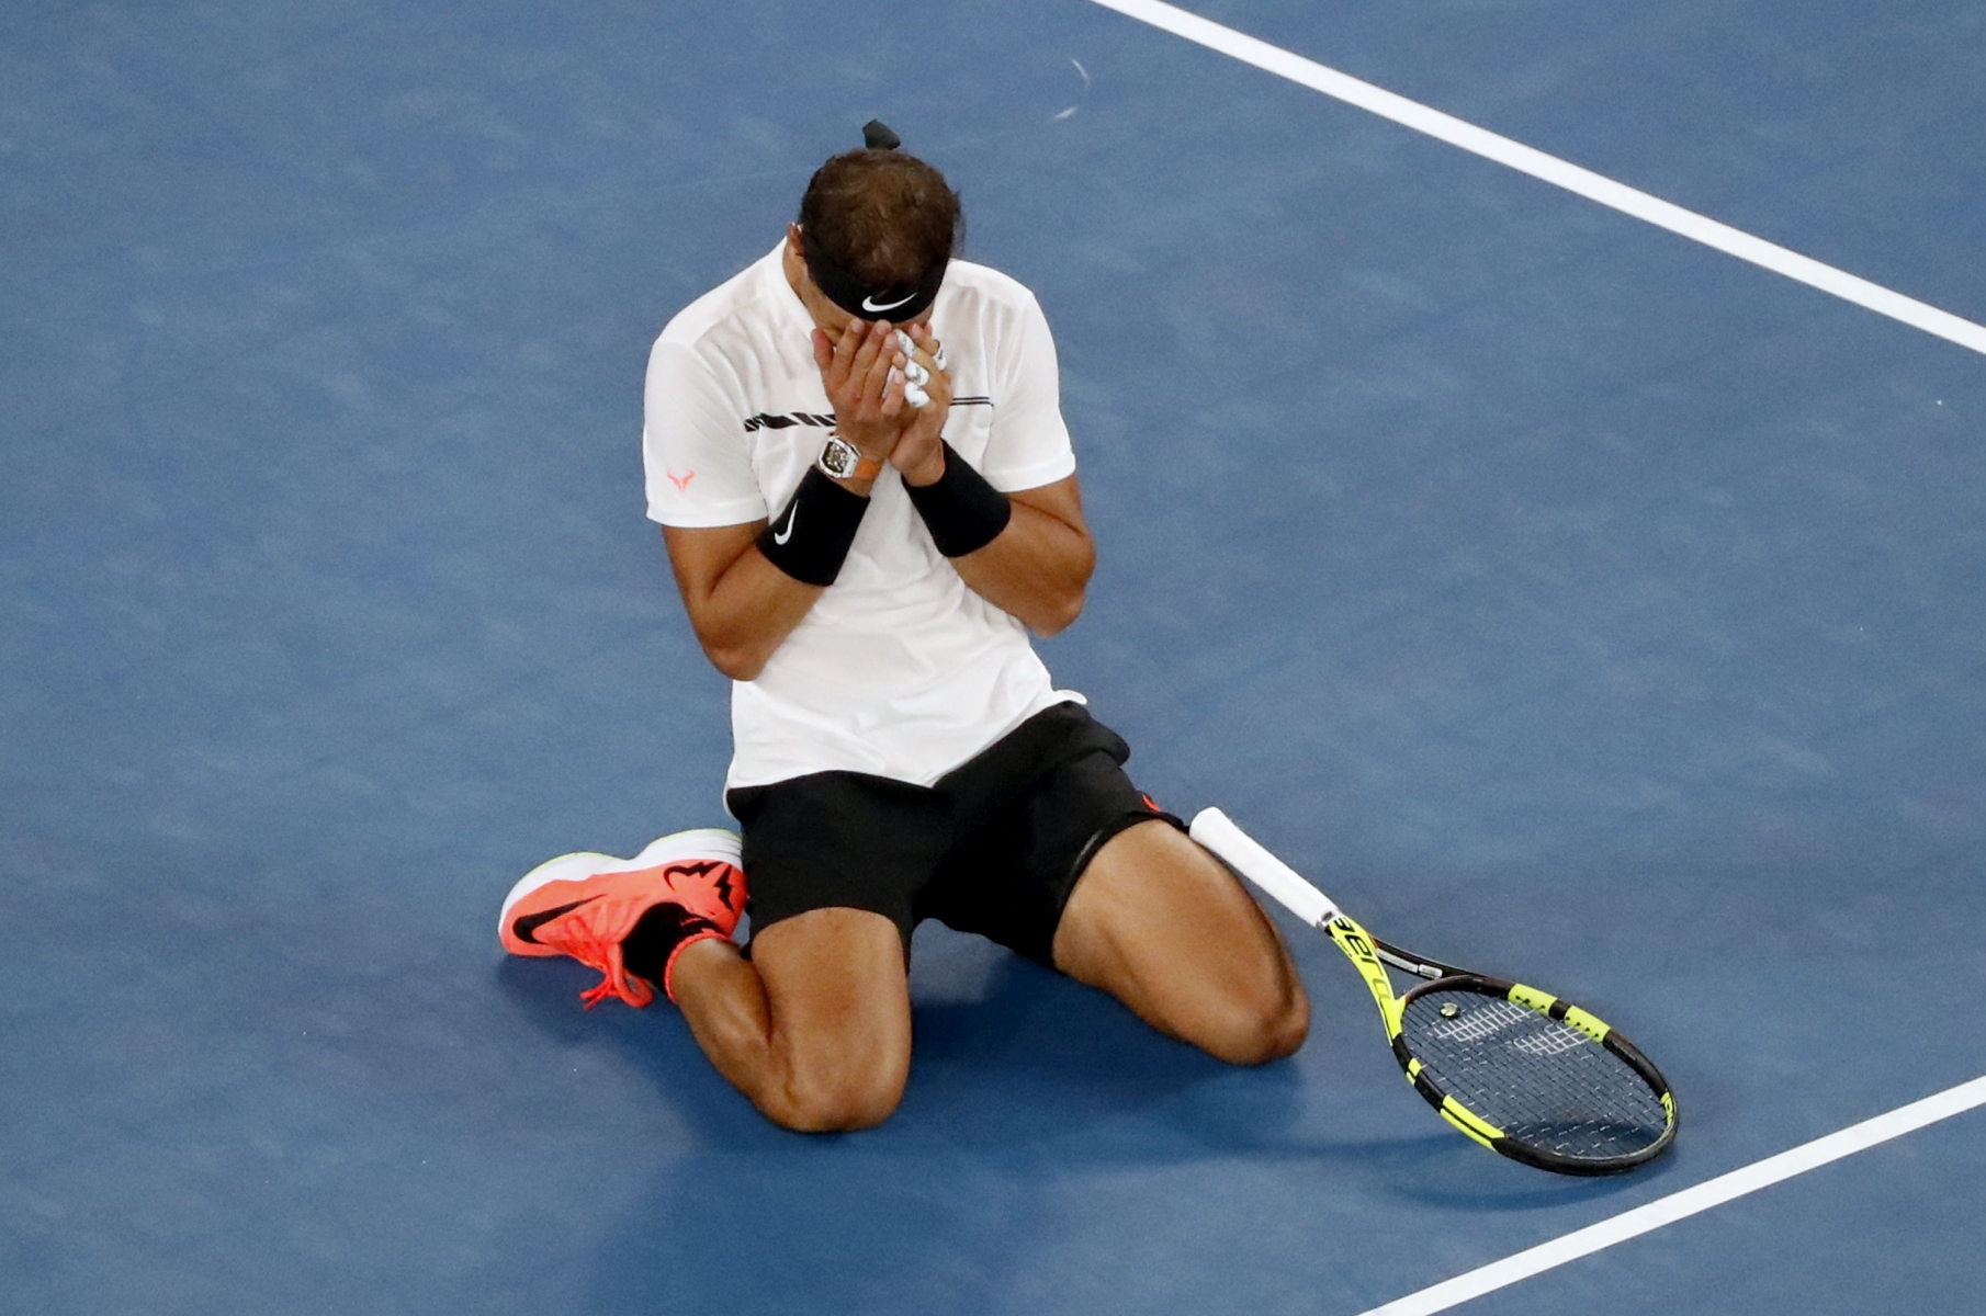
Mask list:
[{"label": "white shirt sleeve with small pink bull-horn logo", "polygon": [[739,526],[767,514],[737,413],[707,363],[657,341],[641,397],[647,516],[663,526]]}]

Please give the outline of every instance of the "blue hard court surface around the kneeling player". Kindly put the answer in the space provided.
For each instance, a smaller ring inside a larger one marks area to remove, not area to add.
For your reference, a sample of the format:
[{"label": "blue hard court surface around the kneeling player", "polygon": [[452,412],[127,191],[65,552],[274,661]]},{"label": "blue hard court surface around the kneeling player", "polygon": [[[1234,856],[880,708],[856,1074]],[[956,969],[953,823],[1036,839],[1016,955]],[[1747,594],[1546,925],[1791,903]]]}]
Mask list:
[{"label": "blue hard court surface around the kneeling player", "polygon": [[[1986,320],[1982,4],[1196,12]],[[6,26],[0,1310],[1350,1316],[1986,1072],[1986,357],[1084,0]],[[502,957],[536,861],[721,822],[641,365],[872,115],[1057,329],[1057,677],[1617,1022],[1670,1157],[1470,1145],[1295,927],[1251,1072],[925,927],[828,1139]],[[1982,1131],[1460,1310],[1966,1310]]]}]

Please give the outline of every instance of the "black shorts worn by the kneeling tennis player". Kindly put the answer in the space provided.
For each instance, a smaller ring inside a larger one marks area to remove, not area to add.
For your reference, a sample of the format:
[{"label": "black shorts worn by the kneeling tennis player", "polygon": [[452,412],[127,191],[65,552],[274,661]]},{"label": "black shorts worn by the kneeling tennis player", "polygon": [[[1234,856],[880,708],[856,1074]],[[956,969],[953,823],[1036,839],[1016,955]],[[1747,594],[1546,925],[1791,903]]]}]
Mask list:
[{"label": "black shorts worn by the kneeling tennis player", "polygon": [[1148,818],[1184,826],[1124,776],[1130,746],[1074,703],[1043,709],[931,786],[812,772],[725,796],[745,830],[753,937],[830,905],[923,919],[1053,965],[1090,855]]}]

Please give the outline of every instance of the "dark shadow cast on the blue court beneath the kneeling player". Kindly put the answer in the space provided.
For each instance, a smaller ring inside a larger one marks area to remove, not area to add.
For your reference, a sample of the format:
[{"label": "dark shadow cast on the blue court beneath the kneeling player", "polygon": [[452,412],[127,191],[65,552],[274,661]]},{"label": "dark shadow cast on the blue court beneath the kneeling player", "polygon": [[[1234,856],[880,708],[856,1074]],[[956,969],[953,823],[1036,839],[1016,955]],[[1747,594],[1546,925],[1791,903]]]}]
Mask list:
[{"label": "dark shadow cast on the blue court beneath the kneeling player", "polygon": [[[1219,1163],[1319,1187],[1347,1175],[1382,1181],[1398,1205],[1464,1213],[1563,1207],[1627,1187],[1458,1179],[1458,1139],[1432,1112],[1412,1137],[1321,1135],[1305,1116],[1313,1080],[1297,1064],[1223,1066],[1098,992],[943,929],[918,941],[918,1052],[904,1106],[856,1135],[767,1123],[709,1068],[679,1014],[582,1012],[574,994],[586,971],[506,961],[495,979],[546,1052],[614,1052],[693,1131],[628,1209],[596,1221],[588,1310],[657,1300],[667,1310],[669,1292],[727,1294],[737,1310],[767,1312],[1015,1310],[1049,1300],[1033,1286],[1053,1284],[1059,1266],[1082,1264],[1066,1250],[1072,1219],[1080,1249],[1098,1249],[1106,1239],[1136,1247],[1144,1213],[1154,1233],[1172,1233],[1182,1215],[1245,1211],[1206,1187],[1138,1191],[1174,1173],[1217,1185],[1207,1169]],[[1219,1227],[1229,1225],[1223,1215]]]}]

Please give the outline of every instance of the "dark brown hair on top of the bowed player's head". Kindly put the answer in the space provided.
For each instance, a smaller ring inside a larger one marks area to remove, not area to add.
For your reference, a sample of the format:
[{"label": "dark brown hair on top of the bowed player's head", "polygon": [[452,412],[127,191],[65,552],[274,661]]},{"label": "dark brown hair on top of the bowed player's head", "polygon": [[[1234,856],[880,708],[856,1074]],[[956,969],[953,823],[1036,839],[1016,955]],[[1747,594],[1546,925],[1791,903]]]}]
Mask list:
[{"label": "dark brown hair on top of the bowed player's head", "polygon": [[916,155],[848,151],[814,171],[800,198],[808,252],[870,288],[914,284],[965,240],[959,195]]}]

